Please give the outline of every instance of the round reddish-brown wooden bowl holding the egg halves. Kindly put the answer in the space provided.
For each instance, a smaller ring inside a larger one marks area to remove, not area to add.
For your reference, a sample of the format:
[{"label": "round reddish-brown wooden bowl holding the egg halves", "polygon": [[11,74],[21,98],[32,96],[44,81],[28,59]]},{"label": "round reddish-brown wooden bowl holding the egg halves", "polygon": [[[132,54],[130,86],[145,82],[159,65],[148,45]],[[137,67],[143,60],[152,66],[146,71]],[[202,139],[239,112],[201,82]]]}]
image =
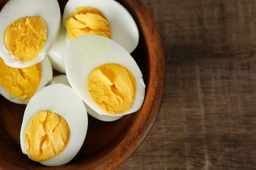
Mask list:
[{"label": "round reddish-brown wooden bowl holding the egg halves", "polygon": [[[7,0],[0,0],[0,9]],[[84,145],[68,164],[43,166],[21,152],[20,127],[26,105],[15,104],[0,96],[0,169],[114,169],[142,143],[153,126],[164,94],[165,60],[156,25],[140,0],[119,0],[132,14],[140,42],[132,53],[146,84],[140,110],[114,122],[103,122],[88,115]],[[63,12],[67,0],[60,0]]]}]

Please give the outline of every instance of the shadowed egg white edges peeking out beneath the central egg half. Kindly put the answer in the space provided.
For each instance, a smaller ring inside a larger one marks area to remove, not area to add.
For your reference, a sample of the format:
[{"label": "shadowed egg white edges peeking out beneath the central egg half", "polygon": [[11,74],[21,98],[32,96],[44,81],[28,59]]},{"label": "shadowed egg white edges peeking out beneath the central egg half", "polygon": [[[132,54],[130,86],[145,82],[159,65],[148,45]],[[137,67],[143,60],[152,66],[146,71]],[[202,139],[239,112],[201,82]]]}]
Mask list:
[{"label": "shadowed egg white edges peeking out beneath the central egg half", "polygon": [[[48,85],[57,84],[57,83],[65,84],[65,85],[71,87],[71,85],[68,82],[67,75],[54,76],[52,78],[52,80],[48,83]],[[100,115],[96,111],[92,110],[92,108],[90,108],[86,103],[84,103],[84,106],[86,108],[87,113],[98,120],[110,122],[110,121],[118,120],[121,117],[123,117],[123,116]]]}]

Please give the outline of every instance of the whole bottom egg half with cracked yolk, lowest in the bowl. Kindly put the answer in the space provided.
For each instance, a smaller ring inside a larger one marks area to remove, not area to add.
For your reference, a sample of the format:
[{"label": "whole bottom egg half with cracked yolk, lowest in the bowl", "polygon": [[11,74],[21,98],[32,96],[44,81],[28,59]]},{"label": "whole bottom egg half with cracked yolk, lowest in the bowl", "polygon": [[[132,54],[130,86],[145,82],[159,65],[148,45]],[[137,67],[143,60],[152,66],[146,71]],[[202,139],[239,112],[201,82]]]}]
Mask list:
[{"label": "whole bottom egg half with cracked yolk, lowest in the bowl", "polygon": [[72,160],[84,143],[88,118],[83,101],[64,84],[45,87],[29,101],[20,130],[24,154],[46,166]]}]

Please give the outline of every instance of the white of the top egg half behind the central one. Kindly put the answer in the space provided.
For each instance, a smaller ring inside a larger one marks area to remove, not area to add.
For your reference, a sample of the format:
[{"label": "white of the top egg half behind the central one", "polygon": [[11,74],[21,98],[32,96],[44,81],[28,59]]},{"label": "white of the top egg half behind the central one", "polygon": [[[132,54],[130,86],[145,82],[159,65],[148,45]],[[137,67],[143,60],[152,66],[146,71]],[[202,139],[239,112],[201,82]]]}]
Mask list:
[{"label": "white of the top egg half behind the central one", "polygon": [[[138,27],[129,11],[115,0],[69,0],[64,9],[64,25],[68,15],[81,6],[94,7],[102,12],[109,22],[111,39],[123,46],[126,51],[132,53],[138,46]],[[66,40],[67,43],[70,42],[69,39]]]}]

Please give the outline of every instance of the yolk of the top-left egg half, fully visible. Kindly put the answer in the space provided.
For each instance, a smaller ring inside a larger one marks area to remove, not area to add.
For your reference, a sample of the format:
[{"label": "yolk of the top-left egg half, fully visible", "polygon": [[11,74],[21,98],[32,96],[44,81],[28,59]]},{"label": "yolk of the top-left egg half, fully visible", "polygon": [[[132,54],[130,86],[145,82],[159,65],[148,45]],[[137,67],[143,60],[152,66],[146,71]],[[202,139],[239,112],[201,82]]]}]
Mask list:
[{"label": "yolk of the top-left egg half, fully visible", "polygon": [[5,30],[4,44],[14,60],[35,60],[47,39],[47,25],[43,18],[23,17],[13,21]]}]

